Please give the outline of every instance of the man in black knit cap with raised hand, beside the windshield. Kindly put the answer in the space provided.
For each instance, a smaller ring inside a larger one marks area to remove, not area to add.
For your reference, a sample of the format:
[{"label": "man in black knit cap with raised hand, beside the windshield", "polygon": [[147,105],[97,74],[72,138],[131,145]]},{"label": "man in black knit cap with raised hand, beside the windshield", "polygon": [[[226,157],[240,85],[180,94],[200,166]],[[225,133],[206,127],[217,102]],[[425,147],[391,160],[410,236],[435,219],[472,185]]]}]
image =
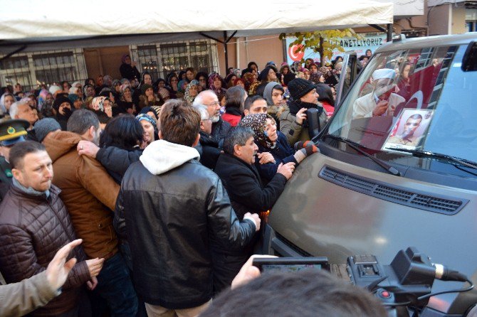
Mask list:
[{"label": "man in black knit cap with raised hand, beside the windshield", "polygon": [[288,102],[289,110],[285,110],[280,116],[280,131],[285,134],[288,144],[298,141],[310,140],[306,110],[316,108],[320,110],[320,126],[323,128],[327,123],[327,116],[323,107],[318,105],[318,92],[313,82],[302,78],[295,78],[288,83],[288,90],[292,100]]}]

